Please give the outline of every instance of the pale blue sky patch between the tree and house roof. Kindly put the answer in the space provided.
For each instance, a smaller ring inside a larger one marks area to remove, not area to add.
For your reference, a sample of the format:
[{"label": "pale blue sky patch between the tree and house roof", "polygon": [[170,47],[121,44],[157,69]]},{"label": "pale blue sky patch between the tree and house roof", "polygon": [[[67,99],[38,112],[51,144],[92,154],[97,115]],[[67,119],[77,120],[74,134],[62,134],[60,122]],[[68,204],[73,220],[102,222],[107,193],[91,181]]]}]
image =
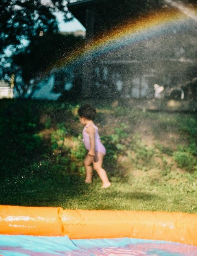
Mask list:
[{"label": "pale blue sky patch between the tree and house roof", "polygon": [[59,30],[61,32],[72,32],[77,30],[85,30],[84,26],[74,18],[73,21],[65,23],[63,20],[63,13],[55,13],[59,21]]}]

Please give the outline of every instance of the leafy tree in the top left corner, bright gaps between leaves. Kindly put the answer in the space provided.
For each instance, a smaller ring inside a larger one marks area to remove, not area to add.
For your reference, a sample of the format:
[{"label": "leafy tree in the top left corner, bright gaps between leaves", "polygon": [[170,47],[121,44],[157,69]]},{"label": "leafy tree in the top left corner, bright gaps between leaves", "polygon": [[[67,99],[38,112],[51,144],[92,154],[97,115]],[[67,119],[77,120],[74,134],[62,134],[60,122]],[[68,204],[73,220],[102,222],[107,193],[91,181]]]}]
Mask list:
[{"label": "leafy tree in the top left corner, bright gaps between leaves", "polygon": [[[41,36],[58,32],[55,12],[63,12],[65,21],[72,20],[73,16],[67,8],[69,2],[70,0],[0,0],[0,79],[9,81],[11,74],[24,73],[13,64],[13,56],[22,56],[27,51],[25,48],[31,42],[37,42]],[[22,80],[20,77],[21,84]]]}]

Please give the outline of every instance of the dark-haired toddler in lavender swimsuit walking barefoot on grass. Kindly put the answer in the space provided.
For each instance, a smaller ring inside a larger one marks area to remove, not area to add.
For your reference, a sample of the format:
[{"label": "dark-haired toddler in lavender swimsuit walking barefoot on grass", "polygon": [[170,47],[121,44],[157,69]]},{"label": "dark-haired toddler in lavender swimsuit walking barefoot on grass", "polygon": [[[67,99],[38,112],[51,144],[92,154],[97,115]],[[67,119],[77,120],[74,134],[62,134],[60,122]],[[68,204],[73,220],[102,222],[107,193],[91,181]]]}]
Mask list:
[{"label": "dark-haired toddler in lavender swimsuit walking barefoot on grass", "polygon": [[86,104],[79,107],[77,111],[79,115],[79,121],[83,124],[83,143],[88,150],[88,154],[84,160],[86,169],[86,183],[92,183],[92,163],[94,169],[97,171],[101,181],[103,182],[102,188],[108,188],[111,186],[107,177],[106,171],[102,168],[103,157],[105,156],[105,147],[100,141],[98,134],[98,127],[95,126],[93,120],[96,116],[96,109]]}]

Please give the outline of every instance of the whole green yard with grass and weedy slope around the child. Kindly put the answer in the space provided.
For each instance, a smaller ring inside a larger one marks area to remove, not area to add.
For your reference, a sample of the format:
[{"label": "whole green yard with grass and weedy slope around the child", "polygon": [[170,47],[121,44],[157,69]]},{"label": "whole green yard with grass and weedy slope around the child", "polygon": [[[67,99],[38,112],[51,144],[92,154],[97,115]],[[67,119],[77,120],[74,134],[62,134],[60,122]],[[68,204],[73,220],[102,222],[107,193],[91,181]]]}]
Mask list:
[{"label": "whole green yard with grass and weedy slope around the child", "polygon": [[112,186],[85,184],[76,104],[0,102],[0,204],[197,213],[196,114],[97,105]]}]

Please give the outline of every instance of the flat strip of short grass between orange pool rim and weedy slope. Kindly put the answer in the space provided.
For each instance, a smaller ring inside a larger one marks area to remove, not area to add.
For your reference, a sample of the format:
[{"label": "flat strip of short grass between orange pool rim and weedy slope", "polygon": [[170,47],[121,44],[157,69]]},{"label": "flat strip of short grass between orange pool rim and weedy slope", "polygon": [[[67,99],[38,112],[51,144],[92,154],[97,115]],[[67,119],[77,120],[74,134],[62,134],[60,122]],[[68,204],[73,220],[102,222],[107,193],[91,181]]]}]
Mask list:
[{"label": "flat strip of short grass between orange pool rim and weedy slope", "polygon": [[1,204],[22,206],[50,206],[63,209],[103,209],[135,211],[196,212],[196,191],[184,186],[144,183],[138,178],[128,181],[112,177],[112,186],[101,189],[100,180],[85,185],[82,177],[55,179],[46,175],[41,179],[1,184]]}]

